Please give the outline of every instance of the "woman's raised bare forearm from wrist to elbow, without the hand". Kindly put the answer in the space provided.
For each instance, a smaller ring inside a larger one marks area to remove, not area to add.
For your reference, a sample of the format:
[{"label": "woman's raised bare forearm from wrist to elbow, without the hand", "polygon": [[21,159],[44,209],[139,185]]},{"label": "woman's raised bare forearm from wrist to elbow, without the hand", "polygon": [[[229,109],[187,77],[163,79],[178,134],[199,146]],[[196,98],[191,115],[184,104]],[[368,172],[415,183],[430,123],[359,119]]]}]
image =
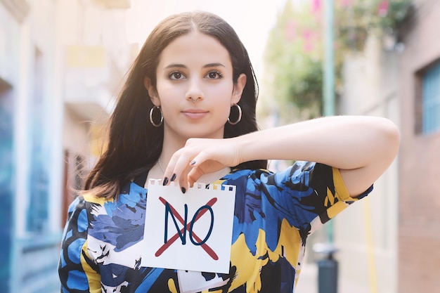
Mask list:
[{"label": "woman's raised bare forearm from wrist to elbow, without the hand", "polygon": [[394,159],[398,141],[396,126],[388,119],[323,117],[240,137],[240,160],[307,160],[357,169],[381,157]]}]

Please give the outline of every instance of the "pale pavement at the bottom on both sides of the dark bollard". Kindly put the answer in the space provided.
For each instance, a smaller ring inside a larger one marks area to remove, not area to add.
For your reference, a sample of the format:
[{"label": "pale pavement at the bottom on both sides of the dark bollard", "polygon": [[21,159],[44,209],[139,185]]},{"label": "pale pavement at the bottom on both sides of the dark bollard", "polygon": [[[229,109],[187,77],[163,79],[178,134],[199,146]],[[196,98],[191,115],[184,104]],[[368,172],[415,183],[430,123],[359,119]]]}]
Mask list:
[{"label": "pale pavement at the bottom on both sides of the dark bollard", "polygon": [[[339,275],[337,293],[370,293],[365,287],[356,285]],[[318,266],[304,263],[295,293],[318,293]]]}]

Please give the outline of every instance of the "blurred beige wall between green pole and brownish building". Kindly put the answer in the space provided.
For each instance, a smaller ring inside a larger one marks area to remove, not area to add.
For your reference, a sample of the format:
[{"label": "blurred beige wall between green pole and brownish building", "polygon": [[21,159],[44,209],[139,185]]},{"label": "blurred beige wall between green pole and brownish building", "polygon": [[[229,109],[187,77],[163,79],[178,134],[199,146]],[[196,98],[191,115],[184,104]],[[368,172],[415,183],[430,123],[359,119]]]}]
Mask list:
[{"label": "blurred beige wall between green pole and brownish building", "polygon": [[[399,125],[398,78],[398,53],[384,51],[380,40],[370,37],[365,51],[345,60],[339,114],[387,117]],[[341,286],[352,283],[365,292],[398,292],[398,197],[396,160],[375,182],[370,196],[335,219]]]}]

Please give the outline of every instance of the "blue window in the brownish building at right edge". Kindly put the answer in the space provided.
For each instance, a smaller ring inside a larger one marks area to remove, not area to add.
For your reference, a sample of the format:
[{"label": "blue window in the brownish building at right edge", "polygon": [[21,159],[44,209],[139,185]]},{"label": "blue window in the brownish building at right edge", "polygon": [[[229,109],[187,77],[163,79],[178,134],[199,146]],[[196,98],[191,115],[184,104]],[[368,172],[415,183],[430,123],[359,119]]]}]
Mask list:
[{"label": "blue window in the brownish building at right edge", "polygon": [[440,130],[440,62],[422,74],[422,133]]}]

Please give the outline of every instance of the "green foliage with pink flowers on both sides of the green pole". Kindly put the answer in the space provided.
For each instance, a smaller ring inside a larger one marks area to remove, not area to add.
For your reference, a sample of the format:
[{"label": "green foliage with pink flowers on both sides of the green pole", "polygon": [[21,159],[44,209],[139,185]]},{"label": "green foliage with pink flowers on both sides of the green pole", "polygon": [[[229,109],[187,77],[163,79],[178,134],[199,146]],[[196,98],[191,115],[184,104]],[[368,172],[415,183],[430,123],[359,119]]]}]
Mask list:
[{"label": "green foliage with pink flowers on both sides of the green pole", "polygon": [[[322,115],[324,0],[287,0],[266,45],[266,97],[282,122]],[[362,51],[369,34],[395,34],[411,0],[335,0],[335,83],[347,51]],[[270,108],[265,106],[265,108]],[[296,117],[292,118],[295,111]],[[268,113],[266,113],[268,114]]]}]

